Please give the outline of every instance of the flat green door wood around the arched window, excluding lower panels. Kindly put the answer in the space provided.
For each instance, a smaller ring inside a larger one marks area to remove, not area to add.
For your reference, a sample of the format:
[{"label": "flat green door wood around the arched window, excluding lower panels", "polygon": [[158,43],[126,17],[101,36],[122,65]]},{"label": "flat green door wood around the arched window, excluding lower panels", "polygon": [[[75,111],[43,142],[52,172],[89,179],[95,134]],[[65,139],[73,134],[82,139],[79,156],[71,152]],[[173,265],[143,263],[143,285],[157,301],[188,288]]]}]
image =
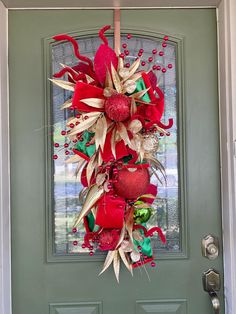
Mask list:
[{"label": "flat green door wood around the arched window, excluding lower panels", "polygon": [[[187,300],[187,313],[212,313],[201,274],[221,273],[220,258],[201,256],[201,238],[221,238],[216,15],[213,9],[124,10],[124,28],[183,37],[182,93],[188,258],[158,270],[123,268],[98,277],[102,261],[47,263],[45,77],[43,40],[112,23],[111,10],[9,12],[13,314],[47,314],[49,304],[102,302],[104,314],[134,314],[138,301]],[[183,156],[181,156],[183,158]],[[221,298],[221,302],[223,300]],[[158,312],[157,312],[158,313]],[[181,313],[181,312],[180,312]],[[224,311],[222,310],[222,313]]]}]

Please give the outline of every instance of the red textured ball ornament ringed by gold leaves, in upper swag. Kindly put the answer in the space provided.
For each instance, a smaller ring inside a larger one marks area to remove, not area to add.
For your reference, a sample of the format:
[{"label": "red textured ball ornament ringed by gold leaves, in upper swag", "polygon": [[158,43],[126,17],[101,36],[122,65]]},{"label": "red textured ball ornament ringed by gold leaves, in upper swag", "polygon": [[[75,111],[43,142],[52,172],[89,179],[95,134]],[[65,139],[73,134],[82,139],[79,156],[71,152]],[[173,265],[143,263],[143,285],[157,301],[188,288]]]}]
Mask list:
[{"label": "red textured ball ornament ringed by gold leaves, in upper swag", "polygon": [[105,101],[105,112],[114,121],[124,121],[130,116],[131,99],[123,94],[114,94]]}]

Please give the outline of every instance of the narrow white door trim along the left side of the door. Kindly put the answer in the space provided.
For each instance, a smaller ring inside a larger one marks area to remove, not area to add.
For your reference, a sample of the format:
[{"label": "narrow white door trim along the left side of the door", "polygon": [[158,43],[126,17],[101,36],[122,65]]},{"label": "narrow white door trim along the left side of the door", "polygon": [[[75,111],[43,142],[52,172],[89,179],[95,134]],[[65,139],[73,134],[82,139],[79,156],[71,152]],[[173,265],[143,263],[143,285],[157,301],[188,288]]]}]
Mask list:
[{"label": "narrow white door trim along the left side of the door", "polygon": [[0,1],[0,313],[11,314],[8,12]]}]

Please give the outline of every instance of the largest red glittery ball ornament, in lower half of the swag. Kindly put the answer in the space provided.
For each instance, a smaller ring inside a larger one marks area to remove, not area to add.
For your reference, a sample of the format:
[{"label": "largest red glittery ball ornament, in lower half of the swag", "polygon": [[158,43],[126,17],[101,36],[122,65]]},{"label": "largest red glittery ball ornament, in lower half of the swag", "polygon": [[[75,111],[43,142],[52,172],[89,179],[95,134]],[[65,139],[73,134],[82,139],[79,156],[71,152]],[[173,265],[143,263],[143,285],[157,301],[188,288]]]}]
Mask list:
[{"label": "largest red glittery ball ornament, in lower half of the swag", "polygon": [[147,168],[122,168],[113,184],[115,192],[126,199],[136,199],[145,194],[150,183]]}]

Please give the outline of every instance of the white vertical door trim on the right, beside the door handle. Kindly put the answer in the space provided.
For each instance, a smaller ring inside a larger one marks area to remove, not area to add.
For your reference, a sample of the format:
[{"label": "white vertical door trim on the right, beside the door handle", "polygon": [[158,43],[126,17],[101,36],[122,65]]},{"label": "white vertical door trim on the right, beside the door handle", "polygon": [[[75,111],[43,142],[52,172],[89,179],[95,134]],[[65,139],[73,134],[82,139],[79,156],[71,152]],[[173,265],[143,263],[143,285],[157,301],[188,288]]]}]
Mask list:
[{"label": "white vertical door trim on the right, beside the door handle", "polygon": [[236,2],[218,7],[222,228],[226,313],[236,313]]}]

